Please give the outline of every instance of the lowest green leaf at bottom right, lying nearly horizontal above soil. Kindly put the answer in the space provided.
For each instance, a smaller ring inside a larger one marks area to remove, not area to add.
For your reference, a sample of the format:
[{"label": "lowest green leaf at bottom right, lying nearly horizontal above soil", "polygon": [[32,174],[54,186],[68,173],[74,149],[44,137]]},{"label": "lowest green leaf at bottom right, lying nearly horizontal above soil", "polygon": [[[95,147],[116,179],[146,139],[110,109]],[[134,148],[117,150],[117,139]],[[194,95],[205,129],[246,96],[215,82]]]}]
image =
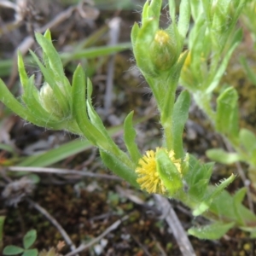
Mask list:
[{"label": "lowest green leaf at bottom right, lying nearly horizontal above soil", "polygon": [[224,224],[221,222],[209,224],[203,227],[193,227],[188,230],[189,235],[195,236],[199,239],[215,240],[224,236],[232,227],[234,223]]}]

